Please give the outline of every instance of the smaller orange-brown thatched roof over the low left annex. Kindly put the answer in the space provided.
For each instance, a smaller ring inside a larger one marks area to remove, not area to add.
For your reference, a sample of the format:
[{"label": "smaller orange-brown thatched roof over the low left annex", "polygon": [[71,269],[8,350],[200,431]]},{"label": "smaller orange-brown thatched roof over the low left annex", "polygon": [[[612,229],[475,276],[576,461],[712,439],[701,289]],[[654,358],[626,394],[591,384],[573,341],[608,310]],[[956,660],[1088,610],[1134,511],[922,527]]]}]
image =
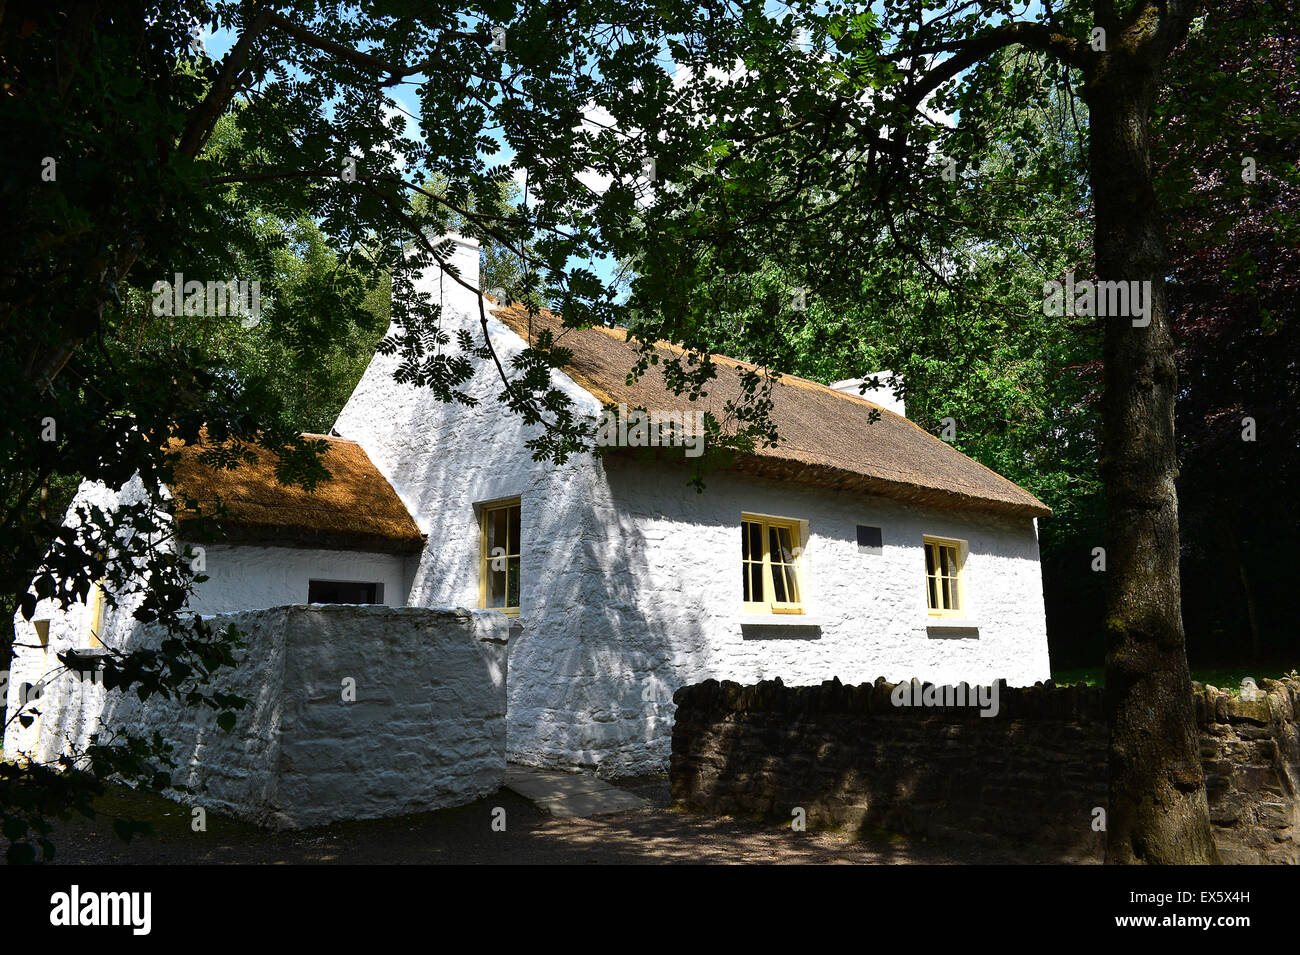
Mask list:
[{"label": "smaller orange-brown thatched roof over the low left annex", "polygon": [[315,491],[281,485],[276,456],[260,448],[252,448],[256,464],[214,470],[200,460],[211,444],[178,447],[172,491],[182,531],[192,512],[183,511],[181,502],[194,498],[205,515],[214,515],[220,499],[228,512],[217,521],[225,541],[382,554],[412,554],[424,546],[406,505],[360,444],[321,434],[303,437],[329,443],[321,461],[330,478]]}]

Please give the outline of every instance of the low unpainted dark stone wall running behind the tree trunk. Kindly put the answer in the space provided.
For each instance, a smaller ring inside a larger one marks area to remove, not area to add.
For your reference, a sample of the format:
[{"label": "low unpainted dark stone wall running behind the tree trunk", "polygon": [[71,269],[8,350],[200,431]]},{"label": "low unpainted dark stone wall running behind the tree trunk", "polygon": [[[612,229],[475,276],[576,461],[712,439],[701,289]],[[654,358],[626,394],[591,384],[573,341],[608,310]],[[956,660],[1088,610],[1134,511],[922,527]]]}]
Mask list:
[{"label": "low unpainted dark stone wall running behind the tree trunk", "polygon": [[[1230,863],[1300,863],[1300,680],[1243,700],[1196,686],[1216,842]],[[707,681],[677,691],[672,794],[685,808],[857,832],[983,838],[1100,859],[1104,691],[998,686],[997,713],[900,707],[894,685]]]}]

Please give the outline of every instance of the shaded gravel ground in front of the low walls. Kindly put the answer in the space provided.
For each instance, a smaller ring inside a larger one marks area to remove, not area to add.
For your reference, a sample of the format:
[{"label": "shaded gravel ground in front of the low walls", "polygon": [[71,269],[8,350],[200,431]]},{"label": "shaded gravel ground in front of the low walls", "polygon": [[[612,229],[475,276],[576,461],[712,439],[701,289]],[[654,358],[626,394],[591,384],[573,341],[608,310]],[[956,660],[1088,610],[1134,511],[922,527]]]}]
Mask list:
[{"label": "shaded gravel ground in front of the low walls", "polygon": [[[592,819],[554,819],[510,791],[452,809],[400,819],[339,822],[272,833],[208,813],[208,830],[190,830],[190,811],[155,796],[116,791],[96,820],[60,824],[56,864],[656,864],[818,863],[963,864],[1060,861],[1023,852],[939,846],[880,834],[793,833],[727,817],[668,808],[666,777],[619,781],[651,808]],[[506,809],[506,832],[493,811]],[[112,816],[153,821],[156,834],[130,845],[112,834]]]}]

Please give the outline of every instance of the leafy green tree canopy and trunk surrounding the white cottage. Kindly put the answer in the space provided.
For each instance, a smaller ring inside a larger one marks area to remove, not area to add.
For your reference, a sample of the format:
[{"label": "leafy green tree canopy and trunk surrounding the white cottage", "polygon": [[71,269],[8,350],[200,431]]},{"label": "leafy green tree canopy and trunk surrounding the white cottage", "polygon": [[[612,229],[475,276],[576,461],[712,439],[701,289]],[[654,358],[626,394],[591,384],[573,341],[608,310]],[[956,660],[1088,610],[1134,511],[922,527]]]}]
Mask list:
[{"label": "leafy green tree canopy and trunk surrounding the white cottage", "polygon": [[[1294,10],[1265,6],[1252,22],[1273,35]],[[238,708],[207,680],[233,663],[238,634],[182,616],[194,570],[157,543],[165,500],[152,491],[135,509],[83,513],[86,530],[73,531],[51,489],[135,474],[159,489],[169,442],[204,429],[221,448],[214,466],[261,446],[281,479],[312,486],[326,474],[300,435],[321,427],[306,411],[337,400],[389,321],[378,348],[400,356],[402,381],[469,403],[462,386],[493,363],[502,404],[543,425],[529,442],[537,457],[585,450],[590,425],[550,374],[562,348],[542,337],[507,368],[486,335],[452,339],[415,292],[420,269],[464,282],[438,238],[454,225],[484,242],[494,275],[530,307],[682,346],[664,369],[680,392],[708,387],[720,350],[814,377],[884,365],[904,372],[923,422],[952,417],[959,447],[1053,498],[1062,526],[1096,526],[1088,502],[1101,482],[1110,858],[1213,859],[1180,613],[1174,327],[1187,314],[1202,350],[1218,335],[1245,348],[1228,330],[1236,320],[1245,338],[1256,318],[1277,334],[1284,307],[1242,309],[1240,292],[1217,292],[1231,301],[1213,321],[1179,309],[1204,300],[1188,262],[1205,242],[1226,242],[1230,272],[1249,283],[1261,268],[1252,243],[1271,234],[1279,205],[1294,225],[1294,208],[1273,185],[1178,199],[1178,183],[1214,165],[1193,144],[1216,148],[1223,94],[1202,88],[1204,103],[1178,113],[1161,83],[1195,87],[1208,57],[1222,66],[1208,75],[1226,77],[1240,35],[1213,14],[1195,21],[1199,10],[1176,0],[1020,14],[998,0],[6,4],[10,609],[84,600],[101,579],[142,589],[142,618],[174,638],[161,656],[112,654],[113,686]],[[209,56],[196,25],[228,31],[229,51]],[[1254,139],[1264,182],[1294,183],[1294,73],[1260,61],[1234,77],[1239,97],[1273,91],[1243,120],[1243,139]],[[399,90],[417,117],[395,105]],[[1153,117],[1170,134],[1162,147]],[[1239,169],[1244,157],[1231,159]],[[1256,227],[1218,235],[1242,207]],[[1167,217],[1183,238],[1201,236],[1173,259]],[[604,260],[627,265],[625,283],[607,281]],[[1144,287],[1145,324],[1053,316],[1045,283],[1071,269]],[[177,273],[256,278],[265,318],[162,321],[150,292]],[[1270,285],[1265,299],[1286,291]],[[630,373],[649,361],[647,351]],[[770,382],[749,382],[729,416],[737,426],[715,435],[724,446],[780,439],[763,411]],[[1213,422],[1236,414],[1225,408],[1197,412],[1213,426],[1193,451],[1222,437]],[[1261,414],[1270,434],[1286,427]],[[140,776],[165,759],[131,746],[91,776]],[[52,791],[52,777],[5,773],[5,833],[20,855],[52,852],[43,813],[88,803],[27,798],[36,782]],[[165,773],[148,778],[166,785]]]}]

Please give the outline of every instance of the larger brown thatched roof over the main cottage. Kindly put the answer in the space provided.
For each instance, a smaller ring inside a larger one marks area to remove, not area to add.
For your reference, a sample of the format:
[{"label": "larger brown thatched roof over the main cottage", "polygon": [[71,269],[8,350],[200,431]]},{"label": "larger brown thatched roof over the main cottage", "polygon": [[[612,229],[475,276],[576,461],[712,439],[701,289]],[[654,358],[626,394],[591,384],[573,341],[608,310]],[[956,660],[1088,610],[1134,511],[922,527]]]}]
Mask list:
[{"label": "larger brown thatched roof over the main cottage", "polygon": [[[525,340],[550,329],[558,344],[573,352],[564,372],[606,404],[625,403],[647,411],[711,411],[723,417],[728,399],[741,394],[738,374],[754,365],[715,355],[718,378],[697,401],[673,395],[660,372],[628,385],[637,347],[624,329],[564,329],[559,316],[529,316],[521,305],[493,314]],[[659,343],[662,357],[682,350]],[[1032,494],[971,460],[907,418],[857,395],[805,378],[783,376],[772,390],[772,421],[780,443],[737,461],[737,468],[784,481],[879,494],[946,508],[1045,516],[1052,511]],[[880,420],[870,421],[872,411]]]}]

